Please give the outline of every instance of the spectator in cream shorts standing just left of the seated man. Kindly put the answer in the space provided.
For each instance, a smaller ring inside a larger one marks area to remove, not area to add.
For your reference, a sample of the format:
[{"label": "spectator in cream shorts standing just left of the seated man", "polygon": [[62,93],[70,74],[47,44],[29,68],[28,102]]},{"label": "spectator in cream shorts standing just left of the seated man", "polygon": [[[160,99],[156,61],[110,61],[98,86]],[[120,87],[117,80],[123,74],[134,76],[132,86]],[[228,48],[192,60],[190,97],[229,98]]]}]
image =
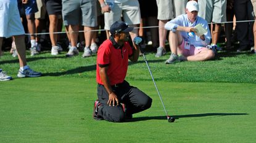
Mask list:
[{"label": "spectator in cream shorts standing just left of the seated man", "polygon": [[165,23],[170,19],[174,18],[173,15],[173,1],[171,0],[157,0],[157,19],[159,20],[159,47],[155,57],[165,55],[165,41],[167,37],[167,30],[164,28]]}]

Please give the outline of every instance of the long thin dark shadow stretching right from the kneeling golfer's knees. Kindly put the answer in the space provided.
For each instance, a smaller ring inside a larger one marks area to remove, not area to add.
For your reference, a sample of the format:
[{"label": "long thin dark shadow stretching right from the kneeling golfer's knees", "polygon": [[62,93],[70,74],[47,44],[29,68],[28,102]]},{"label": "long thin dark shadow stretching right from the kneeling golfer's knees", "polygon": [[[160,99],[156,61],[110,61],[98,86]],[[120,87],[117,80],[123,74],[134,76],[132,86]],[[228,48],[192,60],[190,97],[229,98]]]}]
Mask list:
[{"label": "long thin dark shadow stretching right from the kneeling golfer's knees", "polygon": [[[247,113],[205,113],[205,114],[188,114],[188,115],[173,115],[176,120],[179,118],[191,118],[191,117],[209,117],[209,116],[229,116],[229,115],[249,115]],[[167,116],[155,116],[155,117],[135,117],[127,120],[126,122],[138,122],[144,120],[167,120]]]}]

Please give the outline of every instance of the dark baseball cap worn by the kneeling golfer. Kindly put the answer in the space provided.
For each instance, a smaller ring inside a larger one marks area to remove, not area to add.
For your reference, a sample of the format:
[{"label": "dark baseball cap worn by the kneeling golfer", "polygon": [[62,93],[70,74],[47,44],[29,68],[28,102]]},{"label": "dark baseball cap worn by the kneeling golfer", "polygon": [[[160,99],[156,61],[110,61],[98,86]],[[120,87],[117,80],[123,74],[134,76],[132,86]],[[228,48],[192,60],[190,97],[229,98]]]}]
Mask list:
[{"label": "dark baseball cap worn by the kneeling golfer", "polygon": [[124,21],[115,21],[110,27],[110,33],[114,35],[115,33],[128,33],[133,31],[133,27],[128,27],[127,23]]}]

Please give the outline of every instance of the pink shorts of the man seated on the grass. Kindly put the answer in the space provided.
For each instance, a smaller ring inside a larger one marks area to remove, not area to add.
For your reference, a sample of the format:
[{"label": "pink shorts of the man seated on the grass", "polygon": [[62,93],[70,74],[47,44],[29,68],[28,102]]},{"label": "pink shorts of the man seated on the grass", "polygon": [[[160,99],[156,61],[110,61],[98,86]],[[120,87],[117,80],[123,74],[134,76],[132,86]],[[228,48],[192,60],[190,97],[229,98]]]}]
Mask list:
[{"label": "pink shorts of the man seated on the grass", "polygon": [[190,49],[186,49],[185,48],[185,41],[182,41],[182,44],[178,46],[179,47],[179,51],[181,52],[181,54],[183,56],[192,56],[192,55],[196,55],[197,53],[200,53],[203,50],[208,50],[208,48],[206,47],[201,47],[201,48],[195,48],[194,45],[190,46]]}]

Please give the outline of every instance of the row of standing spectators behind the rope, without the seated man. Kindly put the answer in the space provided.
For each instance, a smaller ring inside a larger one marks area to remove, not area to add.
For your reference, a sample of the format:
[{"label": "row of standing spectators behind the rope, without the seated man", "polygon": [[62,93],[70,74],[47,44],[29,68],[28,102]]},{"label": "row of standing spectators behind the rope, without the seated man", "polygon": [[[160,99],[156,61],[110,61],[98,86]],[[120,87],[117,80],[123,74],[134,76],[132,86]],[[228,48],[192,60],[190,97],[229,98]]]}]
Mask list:
[{"label": "row of standing spectators behind the rope, without the seated man", "polygon": [[[165,24],[179,15],[186,14],[188,2],[188,0],[30,0],[27,3],[22,3],[22,0],[17,1],[20,15],[23,17],[23,26],[29,34],[26,39],[31,56],[37,55],[41,48],[42,50],[51,48],[51,55],[58,55],[64,48],[68,51],[67,57],[79,55],[79,52],[83,52],[83,57],[89,57],[97,53],[97,47],[102,41],[109,39],[110,25],[114,21],[122,20],[134,27],[130,33],[131,41],[136,36],[144,37],[144,44],[153,47],[151,50],[157,51],[155,54],[157,58],[165,55],[168,50],[167,37],[170,31],[164,28]],[[209,23],[212,40],[208,48],[215,53],[217,50],[242,52],[249,49],[254,53],[254,12],[250,0],[196,1],[199,4],[199,17]],[[143,28],[147,26],[152,28]],[[67,34],[54,34],[61,32],[62,29],[65,29]],[[223,31],[224,38],[221,35]],[[44,32],[49,34],[40,34]],[[220,45],[223,39],[225,45]],[[3,47],[9,45],[12,47],[10,52],[13,56],[17,56],[15,43],[10,44],[13,40],[4,41],[6,44]],[[234,43],[238,44],[234,46]]]}]

